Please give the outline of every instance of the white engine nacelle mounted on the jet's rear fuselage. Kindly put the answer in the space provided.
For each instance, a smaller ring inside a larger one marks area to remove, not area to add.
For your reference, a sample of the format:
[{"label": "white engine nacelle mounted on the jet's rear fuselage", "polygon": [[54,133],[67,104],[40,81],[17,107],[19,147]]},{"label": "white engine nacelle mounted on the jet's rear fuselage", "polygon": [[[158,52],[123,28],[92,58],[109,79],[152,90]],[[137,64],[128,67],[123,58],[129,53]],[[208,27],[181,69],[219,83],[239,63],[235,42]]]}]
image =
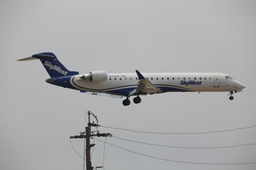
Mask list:
[{"label": "white engine nacelle mounted on the jet's rear fuselage", "polygon": [[108,73],[106,71],[91,71],[89,74],[84,74],[79,78],[91,82],[101,82],[108,79]]}]

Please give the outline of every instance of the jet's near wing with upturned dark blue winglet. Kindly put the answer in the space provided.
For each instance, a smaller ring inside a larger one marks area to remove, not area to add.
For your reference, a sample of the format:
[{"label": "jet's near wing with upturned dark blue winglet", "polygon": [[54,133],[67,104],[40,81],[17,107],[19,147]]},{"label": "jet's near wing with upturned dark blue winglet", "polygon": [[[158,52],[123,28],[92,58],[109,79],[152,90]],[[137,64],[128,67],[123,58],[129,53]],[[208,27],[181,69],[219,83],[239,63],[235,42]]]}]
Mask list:
[{"label": "jet's near wing with upturned dark blue winglet", "polygon": [[129,96],[131,95],[136,95],[139,93],[161,93],[161,90],[153,85],[149,80],[145,79],[145,77],[138,71],[136,70],[136,73],[139,77],[139,85],[137,86],[136,89],[130,92]]}]

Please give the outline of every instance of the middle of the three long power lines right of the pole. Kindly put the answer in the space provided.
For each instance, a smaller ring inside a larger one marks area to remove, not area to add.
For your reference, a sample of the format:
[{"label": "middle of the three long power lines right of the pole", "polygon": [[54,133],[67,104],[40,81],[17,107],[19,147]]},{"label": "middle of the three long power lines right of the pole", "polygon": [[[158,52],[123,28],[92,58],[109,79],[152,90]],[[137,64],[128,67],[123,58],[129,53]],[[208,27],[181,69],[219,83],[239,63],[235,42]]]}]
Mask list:
[{"label": "middle of the three long power lines right of the pole", "polygon": [[[116,136],[112,136],[114,138],[118,138]],[[213,149],[213,148],[232,148],[232,147],[238,147],[238,146],[248,146],[248,145],[254,145],[256,143],[252,144],[240,144],[240,145],[235,145],[235,146],[217,146],[217,147],[181,147],[181,146],[168,146],[168,145],[161,145],[161,144],[150,144],[150,143],[145,143],[145,142],[139,142],[139,141],[134,141],[134,140],[128,140],[128,139],[123,139],[123,138],[118,138],[121,140],[127,140],[130,142],[136,142],[136,143],[142,143],[142,144],[148,144],[148,145],[154,145],[154,146],[164,146],[164,147],[171,147],[171,148],[190,148],[190,149]]]}]

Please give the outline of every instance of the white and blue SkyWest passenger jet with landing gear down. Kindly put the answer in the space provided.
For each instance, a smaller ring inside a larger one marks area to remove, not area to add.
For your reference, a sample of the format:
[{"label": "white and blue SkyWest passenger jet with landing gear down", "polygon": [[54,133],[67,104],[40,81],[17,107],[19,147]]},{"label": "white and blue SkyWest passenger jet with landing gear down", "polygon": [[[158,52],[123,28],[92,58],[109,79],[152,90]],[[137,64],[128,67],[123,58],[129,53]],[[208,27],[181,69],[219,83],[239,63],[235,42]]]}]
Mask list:
[{"label": "white and blue SkyWest passenger jet with landing gear down", "polygon": [[136,70],[136,73],[91,71],[81,74],[66,69],[56,55],[49,52],[17,61],[34,59],[40,59],[50,75],[51,78],[46,79],[47,83],[96,96],[126,97],[122,102],[124,106],[130,105],[131,96],[136,96],[133,101],[137,104],[141,102],[140,95],[166,92],[226,91],[229,92],[229,99],[233,100],[233,94],[245,88],[242,83],[224,73],[140,73]]}]

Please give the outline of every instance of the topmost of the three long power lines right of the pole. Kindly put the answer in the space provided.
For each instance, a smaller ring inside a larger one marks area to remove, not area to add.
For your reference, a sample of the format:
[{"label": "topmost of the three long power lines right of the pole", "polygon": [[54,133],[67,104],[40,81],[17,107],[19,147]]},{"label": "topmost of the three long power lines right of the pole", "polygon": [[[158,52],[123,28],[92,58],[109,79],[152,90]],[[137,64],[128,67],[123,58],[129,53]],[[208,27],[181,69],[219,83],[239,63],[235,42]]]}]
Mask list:
[{"label": "topmost of the three long power lines right of the pole", "polygon": [[[106,127],[106,126],[100,126],[100,127]],[[220,130],[220,131],[212,131],[212,132],[190,132],[190,133],[143,132],[143,131],[137,131],[137,130],[124,129],[124,128],[114,128],[114,127],[106,127],[106,128],[113,128],[113,129],[119,129],[119,130],[127,130],[127,131],[140,132],[140,133],[154,133],[154,134],[204,134],[204,133],[228,132],[228,131],[232,131],[232,130],[239,130],[239,129],[252,128],[252,127],[256,127],[256,125],[251,126],[251,127],[234,128],[234,129],[230,129],[230,130]]]}]

